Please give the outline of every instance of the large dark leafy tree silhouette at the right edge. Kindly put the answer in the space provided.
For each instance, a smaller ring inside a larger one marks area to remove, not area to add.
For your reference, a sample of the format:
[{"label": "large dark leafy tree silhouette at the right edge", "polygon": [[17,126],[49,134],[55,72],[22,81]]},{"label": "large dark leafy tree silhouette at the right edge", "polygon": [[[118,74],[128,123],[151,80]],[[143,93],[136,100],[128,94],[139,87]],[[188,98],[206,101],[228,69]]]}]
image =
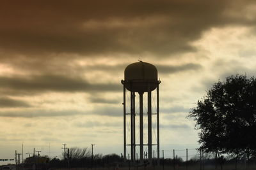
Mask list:
[{"label": "large dark leafy tree silhouette at the right edge", "polygon": [[200,129],[199,143],[206,152],[246,153],[256,156],[256,79],[229,76],[214,83],[196,103],[189,117]]}]

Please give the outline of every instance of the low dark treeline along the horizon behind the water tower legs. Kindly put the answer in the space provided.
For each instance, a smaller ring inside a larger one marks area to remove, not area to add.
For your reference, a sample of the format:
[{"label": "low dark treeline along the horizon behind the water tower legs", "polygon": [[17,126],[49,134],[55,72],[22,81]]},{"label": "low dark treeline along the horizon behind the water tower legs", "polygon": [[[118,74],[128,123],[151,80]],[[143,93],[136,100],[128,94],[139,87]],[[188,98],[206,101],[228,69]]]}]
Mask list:
[{"label": "low dark treeline along the horizon behind the water tower legs", "polygon": [[[65,158],[65,159],[64,159]],[[200,157],[195,156],[188,160],[182,160],[181,157],[175,157],[175,159],[166,158],[160,159],[160,166],[173,166],[173,167],[191,167],[191,166],[215,166],[220,167],[220,165],[231,165],[236,167],[236,164],[240,166],[244,166],[244,158],[241,157],[237,159],[237,157],[233,157],[232,155],[228,155],[227,157],[215,157],[213,154],[205,153],[204,158],[200,159]],[[138,162],[129,162],[127,160],[124,162],[124,159],[120,157],[120,155],[116,155],[115,153],[109,155],[95,154],[93,155],[88,148],[70,148],[69,153],[64,155],[63,159],[54,158],[49,162],[49,166],[54,167],[119,167],[124,166],[136,166],[140,165]],[[145,165],[147,164],[147,160],[145,160]],[[154,164],[157,164],[157,160],[154,160]],[[247,165],[256,166],[256,159],[248,159],[246,160]]]}]

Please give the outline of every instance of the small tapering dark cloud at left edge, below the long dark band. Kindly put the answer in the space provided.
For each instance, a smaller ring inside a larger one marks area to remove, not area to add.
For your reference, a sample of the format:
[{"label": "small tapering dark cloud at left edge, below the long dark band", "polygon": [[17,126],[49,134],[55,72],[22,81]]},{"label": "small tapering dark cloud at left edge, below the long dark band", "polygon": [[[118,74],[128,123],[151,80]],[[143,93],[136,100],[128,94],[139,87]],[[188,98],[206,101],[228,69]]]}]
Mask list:
[{"label": "small tapering dark cloud at left edge, below the long dark band", "polygon": [[0,97],[0,108],[28,108],[31,107],[29,103],[9,97]]}]

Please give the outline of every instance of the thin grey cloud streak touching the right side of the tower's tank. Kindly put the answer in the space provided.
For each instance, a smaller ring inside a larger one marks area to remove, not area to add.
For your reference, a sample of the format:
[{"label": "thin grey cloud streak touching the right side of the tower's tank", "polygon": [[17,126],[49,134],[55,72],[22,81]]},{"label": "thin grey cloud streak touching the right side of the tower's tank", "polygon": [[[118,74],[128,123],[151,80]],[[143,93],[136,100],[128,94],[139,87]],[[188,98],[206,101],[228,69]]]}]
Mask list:
[{"label": "thin grey cloud streak touching the right side of the tower's tank", "polygon": [[164,65],[156,65],[157,70],[159,73],[162,74],[171,74],[171,73],[177,73],[182,71],[190,71],[190,70],[198,70],[202,69],[202,66],[200,64],[182,64],[180,66],[164,66]]}]

